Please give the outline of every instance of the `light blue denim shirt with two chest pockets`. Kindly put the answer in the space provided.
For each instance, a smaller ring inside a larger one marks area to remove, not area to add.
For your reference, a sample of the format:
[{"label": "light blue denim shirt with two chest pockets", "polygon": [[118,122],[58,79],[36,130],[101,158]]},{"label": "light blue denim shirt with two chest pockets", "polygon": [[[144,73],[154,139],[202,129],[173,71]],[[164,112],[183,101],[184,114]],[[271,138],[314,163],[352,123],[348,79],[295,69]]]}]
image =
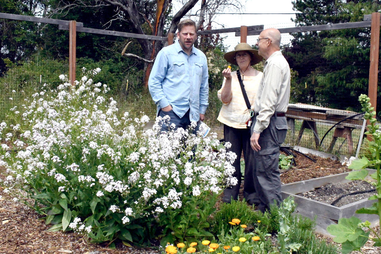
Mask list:
[{"label": "light blue denim shirt with two chest pockets", "polygon": [[207,58],[192,46],[188,56],[179,42],[162,48],[157,54],[148,80],[149,92],[161,108],[171,105],[183,117],[189,111],[190,121],[199,121],[208,107],[209,85]]}]

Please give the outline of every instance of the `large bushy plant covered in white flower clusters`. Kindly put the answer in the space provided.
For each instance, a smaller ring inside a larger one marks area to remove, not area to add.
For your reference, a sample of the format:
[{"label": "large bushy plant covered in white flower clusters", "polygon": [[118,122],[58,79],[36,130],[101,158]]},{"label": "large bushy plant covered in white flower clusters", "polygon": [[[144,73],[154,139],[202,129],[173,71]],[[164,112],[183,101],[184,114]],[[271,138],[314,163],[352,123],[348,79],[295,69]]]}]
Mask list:
[{"label": "large bushy plant covered in white flower clusters", "polygon": [[[149,244],[208,236],[207,218],[231,176],[235,154],[216,135],[160,132],[157,118],[118,112],[109,88],[83,70],[71,87],[35,93],[2,122],[4,191],[24,190],[51,231],[75,230],[93,242]],[[194,125],[192,125],[194,127]]]}]

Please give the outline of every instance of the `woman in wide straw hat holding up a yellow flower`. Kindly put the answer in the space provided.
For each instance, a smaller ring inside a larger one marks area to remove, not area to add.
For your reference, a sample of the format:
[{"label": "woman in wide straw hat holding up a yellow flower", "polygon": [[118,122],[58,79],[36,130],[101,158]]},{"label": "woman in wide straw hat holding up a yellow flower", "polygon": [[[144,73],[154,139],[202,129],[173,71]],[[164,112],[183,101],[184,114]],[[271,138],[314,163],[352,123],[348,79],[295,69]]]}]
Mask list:
[{"label": "woman in wide straw hat holding up a yellow flower", "polygon": [[[235,172],[234,177],[238,183],[229,187],[224,191],[223,202],[230,203],[231,199],[238,199],[239,189],[241,185],[240,158],[243,151],[245,159],[245,178],[243,183],[243,197],[249,204],[255,204],[255,188],[253,183],[252,162],[253,150],[250,147],[250,118],[251,108],[254,106],[256,91],[263,73],[252,68],[251,65],[259,63],[262,56],[258,55],[258,50],[254,50],[247,43],[239,43],[233,51],[224,55],[226,61],[231,64],[238,65],[239,69],[232,72],[231,68],[222,71],[224,81],[221,89],[218,91],[218,98],[222,101],[223,106],[217,118],[224,124],[224,138],[226,142],[232,144],[229,151],[237,154],[233,166]],[[230,66],[229,66],[230,67]],[[237,75],[238,74],[238,75]],[[239,81],[242,80],[243,90]],[[244,98],[244,93],[247,99]],[[250,108],[250,109],[249,109]]]}]

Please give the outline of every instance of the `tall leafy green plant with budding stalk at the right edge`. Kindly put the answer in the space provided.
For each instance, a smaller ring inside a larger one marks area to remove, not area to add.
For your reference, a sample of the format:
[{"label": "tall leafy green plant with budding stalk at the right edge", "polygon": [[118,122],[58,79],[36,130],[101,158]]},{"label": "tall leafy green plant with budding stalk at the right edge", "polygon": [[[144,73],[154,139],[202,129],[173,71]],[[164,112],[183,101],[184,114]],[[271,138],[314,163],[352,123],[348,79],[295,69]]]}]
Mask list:
[{"label": "tall leafy green plant with budding stalk at the right edge", "polygon": [[[370,104],[370,99],[367,95],[360,95],[359,101],[362,106],[362,110],[365,111],[364,118],[370,122],[368,125],[368,131],[365,132],[372,138],[368,145],[368,153],[363,158],[352,162],[350,169],[357,171],[349,172],[346,179],[348,180],[363,180],[371,183],[376,187],[376,195],[371,196],[370,200],[376,200],[371,207],[363,207],[356,211],[357,214],[377,214],[381,222],[381,132],[380,125],[376,124],[376,112]],[[366,167],[374,167],[376,172],[371,175],[375,182],[365,180],[368,175]],[[368,228],[368,231],[364,231],[362,228]],[[337,225],[330,225],[327,227],[327,231],[332,235],[335,235],[333,241],[342,244],[342,252],[349,253],[354,250],[360,250],[360,248],[367,242],[370,231],[375,233],[375,237],[371,238],[374,241],[373,246],[381,246],[381,236],[377,234],[371,227],[370,222],[361,222],[357,217],[351,217],[349,219],[342,218]]]}]

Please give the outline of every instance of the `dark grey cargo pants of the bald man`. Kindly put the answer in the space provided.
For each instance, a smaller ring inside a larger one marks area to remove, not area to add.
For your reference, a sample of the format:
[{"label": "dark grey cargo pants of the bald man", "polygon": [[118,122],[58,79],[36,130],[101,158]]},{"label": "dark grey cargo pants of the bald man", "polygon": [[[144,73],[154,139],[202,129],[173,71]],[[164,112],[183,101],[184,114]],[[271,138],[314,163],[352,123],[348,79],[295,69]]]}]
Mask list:
[{"label": "dark grey cargo pants of the bald man", "polygon": [[[254,119],[253,125],[255,125]],[[252,133],[252,130],[251,130]],[[255,185],[255,203],[262,212],[270,208],[270,204],[282,202],[279,172],[279,148],[287,134],[285,116],[272,116],[269,126],[259,135],[258,144],[261,150],[253,151],[253,182]]]}]

